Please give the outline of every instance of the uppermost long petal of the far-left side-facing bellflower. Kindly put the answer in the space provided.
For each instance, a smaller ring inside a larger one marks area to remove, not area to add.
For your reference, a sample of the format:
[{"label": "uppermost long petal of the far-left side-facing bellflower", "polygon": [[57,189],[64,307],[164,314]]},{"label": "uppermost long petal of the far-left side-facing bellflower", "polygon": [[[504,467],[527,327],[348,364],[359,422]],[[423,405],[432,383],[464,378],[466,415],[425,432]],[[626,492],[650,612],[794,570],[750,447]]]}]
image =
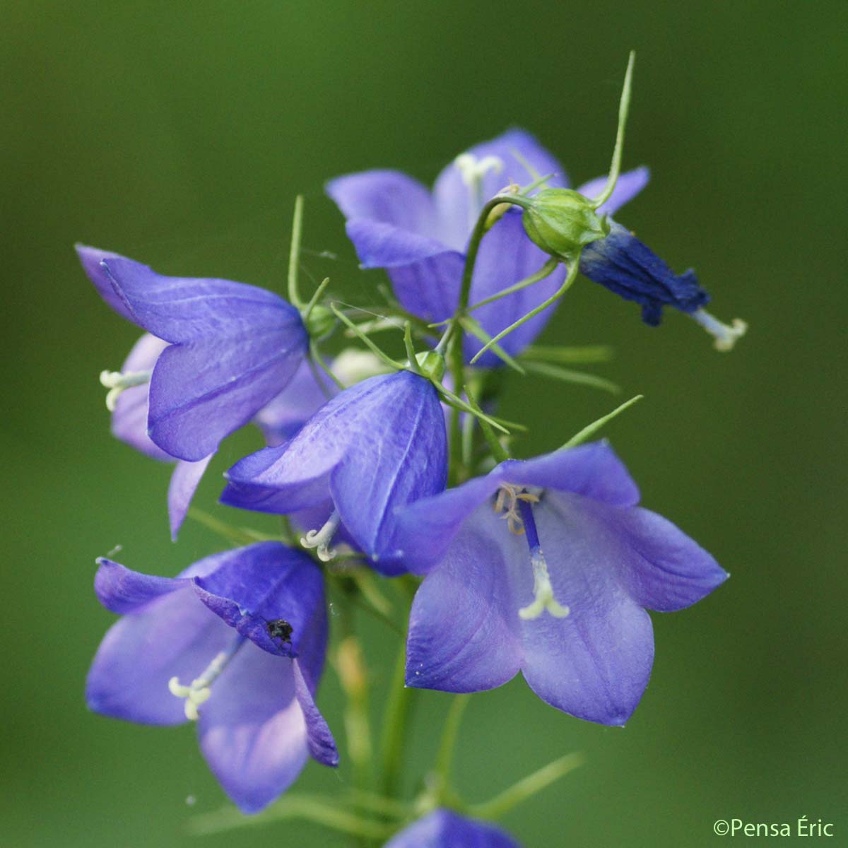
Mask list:
[{"label": "uppermost long petal of the far-left side-facing bellflower", "polygon": [[298,310],[264,288],[230,280],[164,276],[120,256],[104,259],[100,266],[132,320],[172,343],[295,326],[304,332]]}]

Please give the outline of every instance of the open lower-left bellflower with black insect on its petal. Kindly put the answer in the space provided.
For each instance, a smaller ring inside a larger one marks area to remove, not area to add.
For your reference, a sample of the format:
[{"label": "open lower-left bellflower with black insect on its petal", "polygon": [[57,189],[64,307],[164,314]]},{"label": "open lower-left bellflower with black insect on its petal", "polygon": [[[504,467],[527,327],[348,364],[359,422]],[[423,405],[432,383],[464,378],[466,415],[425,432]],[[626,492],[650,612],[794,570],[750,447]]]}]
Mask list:
[{"label": "open lower-left bellflower with black insect on its petal", "polygon": [[326,611],[308,556],[261,542],[174,578],[98,564],[98,599],[122,617],[88,674],[93,711],[143,724],[197,721],[209,767],[243,812],[271,803],[308,756],[338,764],[313,700]]}]

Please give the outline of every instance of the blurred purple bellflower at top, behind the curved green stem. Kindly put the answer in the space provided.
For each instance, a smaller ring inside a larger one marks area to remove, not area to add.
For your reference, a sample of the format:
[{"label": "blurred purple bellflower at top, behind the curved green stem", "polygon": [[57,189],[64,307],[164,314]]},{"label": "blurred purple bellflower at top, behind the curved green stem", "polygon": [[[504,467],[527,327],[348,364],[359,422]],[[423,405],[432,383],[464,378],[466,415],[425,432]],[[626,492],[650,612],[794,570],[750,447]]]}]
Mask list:
[{"label": "blurred purple bellflower at top, behind the curved green stem", "polygon": [[[529,170],[528,166],[529,165]],[[458,156],[438,176],[432,192],[410,176],[393,170],[370,170],[341,176],[326,191],[347,219],[346,229],[364,268],[385,268],[395,295],[405,310],[425,321],[453,315],[471,230],[489,198],[510,181],[532,182],[537,175],[554,176],[548,187],[567,187],[561,165],[533,136],[510,130]],[[611,214],[641,191],[648,171],[622,174],[600,213]],[[593,190],[595,181],[580,187]],[[508,210],[480,245],[471,283],[475,304],[539,271],[548,255],[525,234],[521,211]],[[542,304],[561,287],[560,266],[533,286],[500,298],[474,312],[483,329],[494,336],[517,317]],[[542,331],[549,308],[505,337],[503,349],[516,355]],[[467,358],[482,347],[477,338],[464,341]],[[499,365],[491,351],[480,365]]]}]

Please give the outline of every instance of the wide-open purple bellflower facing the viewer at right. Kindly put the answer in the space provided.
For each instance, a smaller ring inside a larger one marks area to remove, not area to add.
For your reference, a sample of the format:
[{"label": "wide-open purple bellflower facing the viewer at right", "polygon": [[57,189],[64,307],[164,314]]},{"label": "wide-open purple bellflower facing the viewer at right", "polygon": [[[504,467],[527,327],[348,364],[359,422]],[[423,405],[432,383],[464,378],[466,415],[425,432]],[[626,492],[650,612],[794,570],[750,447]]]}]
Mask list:
[{"label": "wide-open purple bellflower facing the viewer at right", "polygon": [[728,577],[638,503],[599,442],[505,460],[403,510],[396,553],[432,568],[410,614],[407,685],[476,692],[521,671],[551,706],[623,725],[653,662],[645,609],[681,610]]}]

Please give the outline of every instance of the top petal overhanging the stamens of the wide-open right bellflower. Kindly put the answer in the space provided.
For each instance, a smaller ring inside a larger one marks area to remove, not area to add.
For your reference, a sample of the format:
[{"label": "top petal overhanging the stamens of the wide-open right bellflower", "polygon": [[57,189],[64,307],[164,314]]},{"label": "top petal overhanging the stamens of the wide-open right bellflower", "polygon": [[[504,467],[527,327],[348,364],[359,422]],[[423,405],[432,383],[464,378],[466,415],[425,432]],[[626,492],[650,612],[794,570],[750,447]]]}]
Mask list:
[{"label": "top petal overhanging the stamens of the wide-open right bellflower", "polygon": [[639,488],[607,442],[555,450],[532,460],[507,460],[499,467],[505,483],[573,492],[612,506],[639,503]]}]

